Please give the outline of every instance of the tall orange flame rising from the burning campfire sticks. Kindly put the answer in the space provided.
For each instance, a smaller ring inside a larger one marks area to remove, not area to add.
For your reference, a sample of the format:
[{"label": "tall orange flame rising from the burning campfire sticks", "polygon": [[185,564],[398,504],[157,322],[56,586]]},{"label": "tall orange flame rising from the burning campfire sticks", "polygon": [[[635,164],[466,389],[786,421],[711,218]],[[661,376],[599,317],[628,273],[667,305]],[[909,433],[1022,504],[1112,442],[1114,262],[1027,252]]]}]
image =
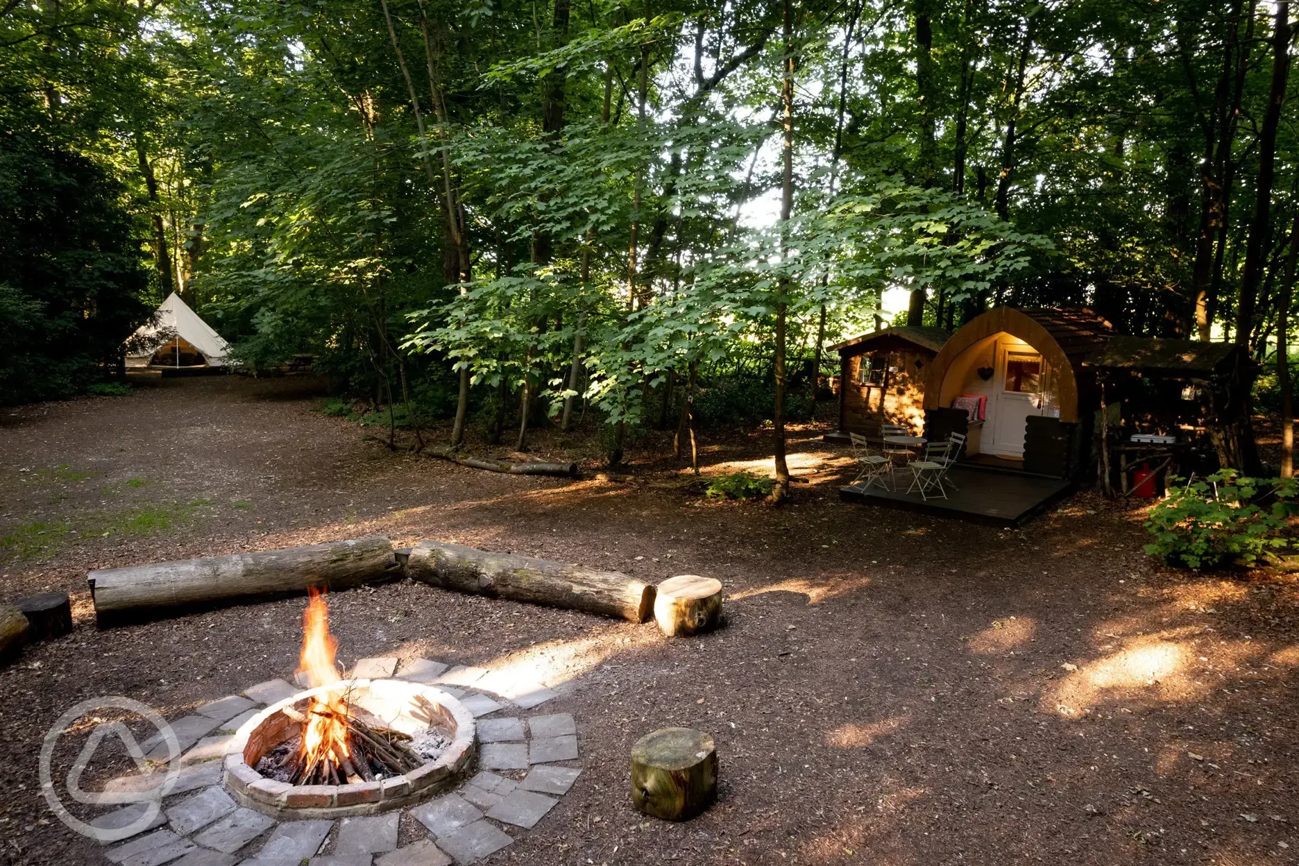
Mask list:
[{"label": "tall orange flame rising from the burning campfire sticks", "polygon": [[[329,634],[329,609],[325,597],[312,589],[307,613],[303,615],[303,652],[297,662],[297,673],[307,674],[310,688],[339,682],[338,667],[334,666],[335,650],[338,640]],[[327,761],[326,766],[333,767],[342,780],[343,765],[349,754],[347,704],[342,692],[329,691],[322,697],[313,697],[310,706],[307,708],[307,723],[303,726],[304,766]]]}]

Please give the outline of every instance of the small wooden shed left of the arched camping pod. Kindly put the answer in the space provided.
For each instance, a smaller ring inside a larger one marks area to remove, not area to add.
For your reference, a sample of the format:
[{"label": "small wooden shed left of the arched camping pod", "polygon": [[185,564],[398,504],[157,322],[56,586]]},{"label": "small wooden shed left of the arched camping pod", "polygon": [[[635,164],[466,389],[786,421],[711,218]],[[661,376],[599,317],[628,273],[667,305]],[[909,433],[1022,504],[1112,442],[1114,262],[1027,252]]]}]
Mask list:
[{"label": "small wooden shed left of the arched camping pod", "polygon": [[925,426],[925,374],[950,336],[938,327],[898,326],[831,345],[839,353],[839,428],[826,440],[847,441],[850,432],[877,439],[883,423],[918,435]]}]

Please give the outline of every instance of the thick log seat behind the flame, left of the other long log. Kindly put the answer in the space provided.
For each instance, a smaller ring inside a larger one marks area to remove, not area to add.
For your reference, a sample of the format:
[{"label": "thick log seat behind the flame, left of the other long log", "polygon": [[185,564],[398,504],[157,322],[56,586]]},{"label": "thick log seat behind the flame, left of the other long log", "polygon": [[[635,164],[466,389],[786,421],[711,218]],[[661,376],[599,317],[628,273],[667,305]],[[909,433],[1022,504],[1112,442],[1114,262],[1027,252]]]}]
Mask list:
[{"label": "thick log seat behind the flame, left of the other long log", "polygon": [[326,541],[283,551],[235,553],[87,575],[100,626],[118,618],[157,615],[177,608],[213,608],[284,596],[308,588],[347,589],[400,576],[385,538]]}]

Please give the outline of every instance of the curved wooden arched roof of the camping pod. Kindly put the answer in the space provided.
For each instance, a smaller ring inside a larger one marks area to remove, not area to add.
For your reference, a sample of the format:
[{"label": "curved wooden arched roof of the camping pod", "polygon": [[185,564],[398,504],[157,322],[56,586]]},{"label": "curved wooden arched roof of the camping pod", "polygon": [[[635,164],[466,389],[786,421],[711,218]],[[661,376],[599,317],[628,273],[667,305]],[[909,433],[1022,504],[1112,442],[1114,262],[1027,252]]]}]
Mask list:
[{"label": "curved wooden arched roof of the camping pod", "polygon": [[1112,326],[1083,308],[1020,310],[998,306],[965,323],[943,345],[929,365],[925,379],[925,408],[950,406],[960,396],[961,377],[948,380],[948,371],[966,349],[995,336],[1009,334],[1042,354],[1055,377],[1053,396],[1061,422],[1077,422],[1095,409],[1094,374],[1082,360],[1104,345]]}]

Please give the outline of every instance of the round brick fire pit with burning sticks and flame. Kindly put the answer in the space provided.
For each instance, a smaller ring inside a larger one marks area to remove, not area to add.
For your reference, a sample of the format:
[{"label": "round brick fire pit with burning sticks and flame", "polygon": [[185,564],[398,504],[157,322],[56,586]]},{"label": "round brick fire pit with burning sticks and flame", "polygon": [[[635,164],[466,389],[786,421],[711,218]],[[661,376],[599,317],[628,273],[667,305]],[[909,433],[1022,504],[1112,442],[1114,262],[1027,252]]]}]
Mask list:
[{"label": "round brick fire pit with burning sticks and flame", "polygon": [[301,667],[310,688],[235,734],[226,789],[277,818],[360,815],[455,787],[475,757],[474,719],[455,697],[400,679],[340,679],[325,601],[307,608]]}]

